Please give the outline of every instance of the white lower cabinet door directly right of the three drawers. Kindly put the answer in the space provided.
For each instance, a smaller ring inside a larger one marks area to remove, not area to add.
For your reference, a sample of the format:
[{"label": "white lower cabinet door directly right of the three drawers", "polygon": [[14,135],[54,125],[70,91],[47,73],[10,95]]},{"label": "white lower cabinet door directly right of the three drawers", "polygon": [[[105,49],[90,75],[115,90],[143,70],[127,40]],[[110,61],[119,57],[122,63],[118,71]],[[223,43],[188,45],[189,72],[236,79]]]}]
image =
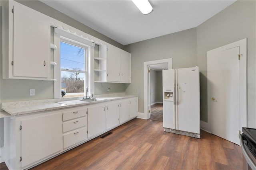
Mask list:
[{"label": "white lower cabinet door directly right of the three drawers", "polygon": [[106,130],[106,106],[88,107],[88,138]]}]

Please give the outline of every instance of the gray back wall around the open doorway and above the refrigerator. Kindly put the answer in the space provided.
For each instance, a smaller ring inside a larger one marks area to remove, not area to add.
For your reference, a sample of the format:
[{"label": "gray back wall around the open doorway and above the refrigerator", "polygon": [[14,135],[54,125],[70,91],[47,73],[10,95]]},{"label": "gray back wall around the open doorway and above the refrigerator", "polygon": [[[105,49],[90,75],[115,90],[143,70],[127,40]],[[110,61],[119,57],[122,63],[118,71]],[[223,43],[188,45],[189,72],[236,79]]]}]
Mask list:
[{"label": "gray back wall around the open doorway and above the refrigerator", "polygon": [[125,49],[132,53],[132,84],[126,93],[138,95],[138,111],[143,113],[144,62],[172,58],[172,68],[197,66],[196,28],[126,45]]}]

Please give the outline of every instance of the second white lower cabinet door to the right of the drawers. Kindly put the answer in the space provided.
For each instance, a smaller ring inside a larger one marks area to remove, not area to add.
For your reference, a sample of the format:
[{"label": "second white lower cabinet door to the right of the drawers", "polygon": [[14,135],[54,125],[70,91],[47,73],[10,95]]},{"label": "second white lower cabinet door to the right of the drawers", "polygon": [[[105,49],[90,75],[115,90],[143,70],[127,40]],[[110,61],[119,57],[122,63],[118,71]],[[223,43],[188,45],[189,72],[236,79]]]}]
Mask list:
[{"label": "second white lower cabinet door to the right of the drawers", "polygon": [[119,124],[119,102],[106,104],[106,127],[110,129]]}]

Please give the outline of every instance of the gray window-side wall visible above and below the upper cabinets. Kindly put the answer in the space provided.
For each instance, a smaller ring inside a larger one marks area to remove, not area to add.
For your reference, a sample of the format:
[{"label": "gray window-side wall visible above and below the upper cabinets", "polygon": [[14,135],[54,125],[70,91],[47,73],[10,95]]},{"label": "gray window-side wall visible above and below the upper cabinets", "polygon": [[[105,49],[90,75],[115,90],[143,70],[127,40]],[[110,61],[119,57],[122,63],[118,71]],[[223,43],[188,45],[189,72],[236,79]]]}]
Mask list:
[{"label": "gray window-side wall visible above and below the upper cabinets", "polygon": [[[62,14],[61,12],[59,12],[57,10],[54,10],[53,8],[47,6],[46,4],[44,4],[40,1],[18,0],[18,2],[28,6],[30,8],[33,8],[34,10],[42,12],[43,14],[46,14],[52,18],[55,18],[56,20],[59,20],[68,25],[71,25],[72,27],[80,29],[90,35],[93,35],[94,37],[102,39],[103,41],[106,41],[112,45],[115,45],[116,47],[119,47],[120,49],[124,49],[124,46],[121,45],[120,43],[117,43],[116,41],[106,37],[105,35],[98,33],[94,29],[91,29],[90,27]],[[1,1],[1,6],[5,3],[6,2]],[[1,17],[2,17],[2,14],[1,14]],[[0,23],[1,23],[0,25],[2,25],[2,19],[1,19]],[[2,30],[2,28],[1,28],[1,30]],[[2,49],[2,46],[1,46],[1,49]],[[0,63],[2,63],[2,50],[0,52]],[[2,72],[2,70],[1,70],[1,72]],[[121,84],[121,85],[120,84],[116,84],[116,85],[105,84],[105,85],[110,86],[110,88],[112,88],[112,90],[110,91],[111,93],[125,91],[124,84]],[[29,89],[35,89],[36,95],[29,96]],[[107,91],[105,87],[102,87],[100,85],[97,86],[97,84],[96,84],[95,89],[96,89],[95,94],[102,94]],[[22,100],[24,101],[24,100],[40,100],[40,99],[54,98],[54,94],[53,94],[54,93],[53,92],[54,83],[53,83],[53,81],[21,80],[21,79],[3,80],[2,74],[1,74],[0,90],[1,90],[1,96],[0,96],[1,103],[16,102],[16,101],[22,101]]]}]

